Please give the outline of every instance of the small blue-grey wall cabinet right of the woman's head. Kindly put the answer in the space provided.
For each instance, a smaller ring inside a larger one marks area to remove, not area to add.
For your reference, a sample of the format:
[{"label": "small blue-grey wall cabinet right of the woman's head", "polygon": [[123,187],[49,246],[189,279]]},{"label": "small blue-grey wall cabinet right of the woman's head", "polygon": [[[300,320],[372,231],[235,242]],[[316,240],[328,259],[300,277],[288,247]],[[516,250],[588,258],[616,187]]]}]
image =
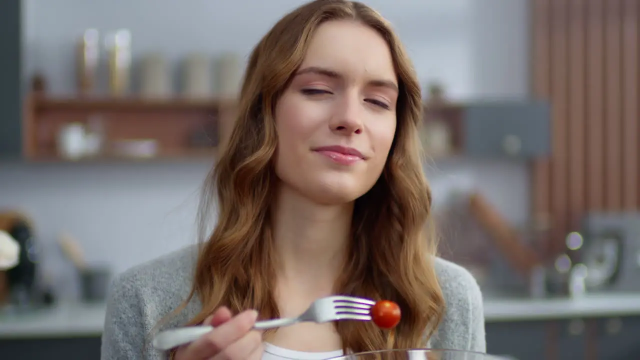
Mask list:
[{"label": "small blue-grey wall cabinet right of the woman's head", "polygon": [[544,101],[465,104],[463,154],[490,158],[537,158],[550,153],[550,106]]}]

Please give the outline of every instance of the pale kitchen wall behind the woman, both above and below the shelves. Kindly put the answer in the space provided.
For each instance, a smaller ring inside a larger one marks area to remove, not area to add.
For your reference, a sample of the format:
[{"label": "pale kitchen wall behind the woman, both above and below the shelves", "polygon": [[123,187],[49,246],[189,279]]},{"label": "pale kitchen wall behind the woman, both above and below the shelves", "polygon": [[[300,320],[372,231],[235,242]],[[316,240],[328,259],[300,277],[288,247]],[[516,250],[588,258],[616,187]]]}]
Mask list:
[{"label": "pale kitchen wall behind the woman, both above and below the shelves", "polygon": [[[300,1],[251,3],[24,1],[22,85],[28,88],[33,74],[42,72],[52,94],[73,94],[76,40],[87,28],[105,33],[130,29],[134,58],[161,52],[177,65],[193,51],[211,56],[236,51],[244,59],[269,26]],[[372,5],[397,24],[425,84],[442,81],[454,99],[527,94],[525,1]],[[499,13],[516,16],[504,16],[508,21],[495,24]],[[415,15],[407,19],[407,14]],[[174,20],[168,26],[166,19]],[[81,243],[88,261],[108,263],[121,272],[194,241],[198,187],[210,166],[210,160],[189,159],[142,164],[6,163],[0,176],[0,206],[25,209],[35,218],[43,243],[57,245],[58,234],[68,232]],[[460,159],[436,167],[432,178],[436,187],[445,186],[437,177],[470,177],[509,220],[522,223],[527,218],[525,164]],[[53,272],[61,271],[56,259],[48,260]]]}]

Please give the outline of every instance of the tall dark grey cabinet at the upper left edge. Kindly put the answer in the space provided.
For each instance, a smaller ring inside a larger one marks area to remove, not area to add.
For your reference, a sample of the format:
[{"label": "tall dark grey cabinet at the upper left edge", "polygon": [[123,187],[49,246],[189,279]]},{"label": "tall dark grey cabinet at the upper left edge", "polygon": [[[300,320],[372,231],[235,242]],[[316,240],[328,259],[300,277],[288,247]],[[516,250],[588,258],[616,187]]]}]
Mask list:
[{"label": "tall dark grey cabinet at the upper left edge", "polygon": [[0,1],[0,159],[19,157],[22,147],[21,3]]}]

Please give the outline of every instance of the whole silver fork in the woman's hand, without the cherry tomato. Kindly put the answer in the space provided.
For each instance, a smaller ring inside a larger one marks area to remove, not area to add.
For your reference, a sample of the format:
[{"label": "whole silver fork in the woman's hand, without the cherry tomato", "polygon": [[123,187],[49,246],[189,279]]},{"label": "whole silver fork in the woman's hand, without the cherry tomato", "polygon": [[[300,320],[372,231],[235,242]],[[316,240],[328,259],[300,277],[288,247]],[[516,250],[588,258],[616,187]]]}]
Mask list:
[{"label": "whole silver fork in the woman's hand, without the cherry tomato", "polygon": [[[300,322],[331,322],[335,320],[371,320],[371,307],[376,302],[360,297],[330,296],[314,301],[304,313],[296,318],[280,318],[256,322],[253,329],[273,329]],[[153,345],[158,350],[170,350],[191,343],[213,330],[212,326],[199,325],[160,332]]]}]

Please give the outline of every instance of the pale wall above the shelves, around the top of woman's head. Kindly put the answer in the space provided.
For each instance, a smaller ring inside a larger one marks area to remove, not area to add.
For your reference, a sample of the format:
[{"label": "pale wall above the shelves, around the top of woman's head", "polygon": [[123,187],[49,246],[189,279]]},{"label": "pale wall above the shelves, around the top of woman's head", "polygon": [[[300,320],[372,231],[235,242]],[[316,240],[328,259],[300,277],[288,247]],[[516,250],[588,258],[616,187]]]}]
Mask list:
[{"label": "pale wall above the shelves, around the top of woman's head", "polygon": [[[44,69],[54,92],[74,88],[74,41],[86,28],[132,31],[134,55],[247,55],[301,0],[23,0],[26,74]],[[396,27],[420,79],[452,97],[527,92],[526,0],[368,0]]]}]

